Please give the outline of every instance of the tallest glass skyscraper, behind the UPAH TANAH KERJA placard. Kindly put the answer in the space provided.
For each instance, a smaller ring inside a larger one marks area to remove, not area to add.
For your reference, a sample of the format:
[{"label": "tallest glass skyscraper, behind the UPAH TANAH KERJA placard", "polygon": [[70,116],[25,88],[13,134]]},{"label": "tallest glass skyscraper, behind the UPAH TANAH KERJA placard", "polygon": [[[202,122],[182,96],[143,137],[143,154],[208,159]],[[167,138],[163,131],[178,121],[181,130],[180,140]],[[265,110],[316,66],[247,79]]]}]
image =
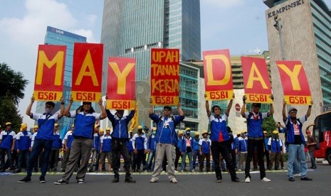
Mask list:
[{"label": "tallest glass skyscraper, behind the UPAH TANAH KERJA placard", "polygon": [[[136,59],[139,109],[142,116],[148,116],[151,48],[179,48],[182,62],[200,60],[200,1],[105,0],[101,43],[105,49],[103,70],[107,70],[108,57]],[[194,92],[197,91],[198,72],[185,66],[181,66],[180,72],[184,112],[197,119],[197,109],[192,107],[198,102],[197,92]],[[182,82],[186,79],[189,87],[183,87]],[[106,82],[107,74],[104,74],[103,94]],[[144,121],[147,124],[147,119]],[[197,128],[197,123],[194,126]]]}]

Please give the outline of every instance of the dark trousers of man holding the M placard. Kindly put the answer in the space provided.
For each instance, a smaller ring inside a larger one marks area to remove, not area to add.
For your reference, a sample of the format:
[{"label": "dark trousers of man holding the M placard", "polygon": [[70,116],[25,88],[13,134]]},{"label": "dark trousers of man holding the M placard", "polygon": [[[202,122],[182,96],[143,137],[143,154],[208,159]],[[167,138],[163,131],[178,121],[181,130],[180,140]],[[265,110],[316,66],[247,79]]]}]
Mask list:
[{"label": "dark trousers of man holding the M placard", "polygon": [[32,152],[30,154],[30,158],[28,160],[28,168],[27,168],[27,177],[31,177],[32,175],[32,168],[36,158],[39,156],[41,151],[43,150],[43,167],[41,168],[41,178],[45,178],[48,163],[49,163],[49,156],[51,154],[53,145],[53,140],[47,139],[38,139],[36,138],[33,143]]}]

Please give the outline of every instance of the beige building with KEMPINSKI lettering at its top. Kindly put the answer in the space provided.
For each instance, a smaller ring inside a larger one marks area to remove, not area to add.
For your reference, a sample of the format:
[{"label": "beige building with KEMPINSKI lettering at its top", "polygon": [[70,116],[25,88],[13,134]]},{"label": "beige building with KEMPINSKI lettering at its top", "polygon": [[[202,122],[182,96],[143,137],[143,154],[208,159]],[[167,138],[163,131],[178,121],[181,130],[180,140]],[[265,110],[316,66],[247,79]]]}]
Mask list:
[{"label": "beige building with KEMPINSKI lettering at its top", "polygon": [[[283,88],[276,60],[300,60],[312,94],[311,124],[331,104],[331,11],[322,0],[263,1],[266,11],[275,120],[282,119]],[[290,106],[288,106],[290,107]],[[298,107],[298,116],[307,106]],[[306,124],[306,125],[308,125]]]}]

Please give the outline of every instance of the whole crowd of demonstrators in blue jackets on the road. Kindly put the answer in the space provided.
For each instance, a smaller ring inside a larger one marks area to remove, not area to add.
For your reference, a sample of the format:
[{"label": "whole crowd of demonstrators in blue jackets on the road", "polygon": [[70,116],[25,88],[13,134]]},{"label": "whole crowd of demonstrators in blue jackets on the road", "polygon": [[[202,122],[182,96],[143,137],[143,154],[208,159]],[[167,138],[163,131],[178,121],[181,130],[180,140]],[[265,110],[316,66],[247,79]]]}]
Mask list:
[{"label": "whole crowd of demonstrators in blue jackets on the road", "polygon": [[[234,97],[234,95],[233,95]],[[272,97],[273,99],[273,97]],[[246,97],[243,97],[241,116],[247,120],[247,129],[237,132],[227,126],[227,119],[232,107],[232,100],[222,114],[221,107],[209,107],[206,101],[206,113],[209,117],[210,132],[191,131],[189,127],[177,131],[175,128],[184,119],[184,111],[177,105],[178,115],[172,115],[172,107],[164,106],[162,115],[154,114],[152,99],[150,99],[149,117],[154,121],[150,133],[145,133],[142,126],[137,126],[137,132],[128,130],[128,124],[135,115],[135,110],[124,115],[124,110],[118,109],[115,114],[103,107],[100,99],[101,114],[95,113],[90,102],[70,111],[73,99],[66,108],[61,99],[61,110],[53,114],[54,103],[46,102],[44,114],[31,113],[34,98],[26,110],[26,114],[37,121],[33,127],[33,134],[27,131],[27,124],[21,124],[16,134],[11,129],[11,123],[6,122],[4,131],[0,134],[0,171],[7,168],[14,173],[21,173],[26,168],[26,177],[19,183],[31,181],[32,172],[41,168],[39,180],[46,183],[47,171],[63,173],[56,185],[68,184],[74,172],[77,183],[85,183],[87,172],[112,172],[112,183],[120,180],[120,157],[123,158],[122,170],[125,171],[125,183],[136,183],[131,172],[152,172],[150,183],[157,183],[162,170],[167,171],[169,181],[177,183],[177,172],[211,172],[216,175],[216,182],[221,183],[221,172],[228,172],[231,181],[240,182],[236,172],[245,171],[246,183],[251,182],[251,161],[253,170],[260,170],[260,179],[270,182],[266,178],[268,170],[285,169],[283,153],[288,153],[288,180],[295,181],[300,175],[301,180],[312,180],[307,177],[307,163],[305,150],[309,151],[313,169],[317,168],[314,158],[316,141],[311,132],[306,130],[308,141],[305,141],[302,127],[310,116],[311,105],[307,114],[298,118],[297,109],[290,108],[286,112],[283,104],[283,121],[277,129],[268,136],[262,130],[264,118],[273,114],[273,104],[270,111],[261,113],[261,104],[253,103],[252,111],[246,112]],[[56,121],[67,116],[75,119],[75,123],[61,140]],[[95,121],[108,118],[112,128],[102,129]],[[279,134],[285,134],[282,141]],[[60,152],[63,151],[61,166],[58,166]],[[179,163],[181,159],[181,163]],[[265,166],[266,159],[266,166]],[[6,161],[5,161],[6,160]],[[107,160],[107,169],[105,168]],[[212,161],[211,161],[212,160]],[[245,164],[244,164],[245,163]]]}]

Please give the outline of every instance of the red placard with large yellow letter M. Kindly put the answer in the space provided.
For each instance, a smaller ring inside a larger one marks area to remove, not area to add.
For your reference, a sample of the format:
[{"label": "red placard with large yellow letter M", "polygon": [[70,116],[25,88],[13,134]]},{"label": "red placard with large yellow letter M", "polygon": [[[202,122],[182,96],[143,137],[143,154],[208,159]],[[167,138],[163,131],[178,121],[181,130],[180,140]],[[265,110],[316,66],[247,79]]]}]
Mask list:
[{"label": "red placard with large yellow letter M", "polygon": [[60,101],[63,95],[65,45],[39,45],[33,96],[39,101]]}]

